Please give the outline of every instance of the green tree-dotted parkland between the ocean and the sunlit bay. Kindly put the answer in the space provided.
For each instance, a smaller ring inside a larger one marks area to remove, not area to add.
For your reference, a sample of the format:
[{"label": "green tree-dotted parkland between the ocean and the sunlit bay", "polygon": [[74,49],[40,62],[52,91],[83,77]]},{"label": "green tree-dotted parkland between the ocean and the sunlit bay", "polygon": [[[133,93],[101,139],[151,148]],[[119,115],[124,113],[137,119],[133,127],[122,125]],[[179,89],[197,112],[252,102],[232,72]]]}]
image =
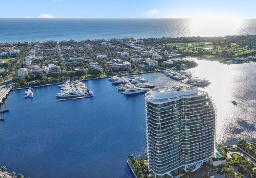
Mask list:
[{"label": "green tree-dotted parkland between the ocean and the sunlit bay", "polygon": [[254,55],[256,35],[224,37],[146,38],[144,44],[176,51],[182,56],[204,57],[210,60]]}]

